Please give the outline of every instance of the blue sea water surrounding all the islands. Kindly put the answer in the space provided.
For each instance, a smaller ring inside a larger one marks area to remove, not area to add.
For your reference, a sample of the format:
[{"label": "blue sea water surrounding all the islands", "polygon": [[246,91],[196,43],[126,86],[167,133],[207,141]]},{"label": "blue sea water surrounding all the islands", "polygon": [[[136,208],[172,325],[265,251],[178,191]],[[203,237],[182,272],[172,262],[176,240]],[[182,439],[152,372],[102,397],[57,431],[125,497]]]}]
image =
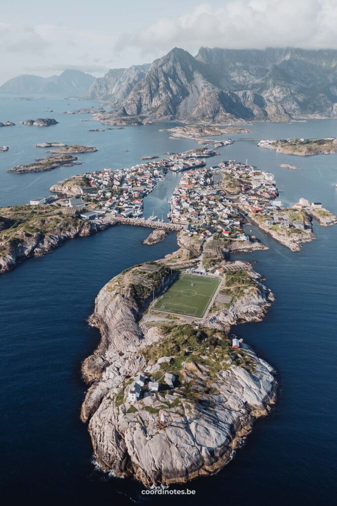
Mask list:
[{"label": "blue sea water surrounding all the islands", "polygon": [[[142,155],[163,156],[195,147],[188,139],[169,140],[161,128],[174,123],[88,132],[98,122],[90,115],[62,111],[97,105],[78,100],[18,100],[0,95],[0,121],[16,126],[0,129],[0,206],[26,203],[44,196],[69,175],[104,167],[121,168]],[[47,108],[53,112],[45,112]],[[54,117],[49,128],[20,125],[24,119]],[[104,128],[104,127],[103,127]],[[336,120],[307,123],[254,123],[251,134],[232,139],[337,136]],[[223,136],[226,138],[228,136]],[[44,155],[37,142],[96,146],[97,153],[78,155],[82,166],[40,174],[8,174],[18,163]],[[128,149],[129,151],[125,151]],[[237,159],[275,175],[284,204],[300,197],[322,201],[337,213],[337,155],[299,157],[257,147],[256,141],[234,142],[208,160]],[[280,168],[281,163],[301,167]],[[169,173],[145,200],[145,215],[166,215],[168,199],[179,180]],[[161,258],[176,247],[164,242],[145,246],[149,230],[120,226],[66,242],[43,258],[31,259],[0,276],[1,490],[5,504],[197,504],[228,506],[332,504],[335,501],[337,388],[337,227],[314,225],[317,240],[291,252],[251,225],[247,230],[268,251],[236,255],[254,262],[275,294],[261,323],[235,331],[277,370],[278,402],[260,419],[216,476],[175,489],[193,496],[143,496],[142,485],[117,479],[97,469],[87,428],[79,412],[86,386],[81,361],[99,342],[86,319],[100,288],[121,270]]]}]

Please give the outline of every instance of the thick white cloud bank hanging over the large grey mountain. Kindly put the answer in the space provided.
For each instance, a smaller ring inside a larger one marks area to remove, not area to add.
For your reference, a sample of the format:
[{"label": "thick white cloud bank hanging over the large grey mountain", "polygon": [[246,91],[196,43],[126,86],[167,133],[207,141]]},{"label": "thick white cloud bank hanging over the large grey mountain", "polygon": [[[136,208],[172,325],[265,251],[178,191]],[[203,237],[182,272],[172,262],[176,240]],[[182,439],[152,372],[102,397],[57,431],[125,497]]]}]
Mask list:
[{"label": "thick white cloud bank hanging over the large grey mountain", "polygon": [[123,34],[115,45],[142,55],[174,46],[194,53],[201,46],[231,49],[266,47],[337,48],[335,0],[228,0],[221,8],[200,4],[191,12],[159,18],[149,27]]}]

